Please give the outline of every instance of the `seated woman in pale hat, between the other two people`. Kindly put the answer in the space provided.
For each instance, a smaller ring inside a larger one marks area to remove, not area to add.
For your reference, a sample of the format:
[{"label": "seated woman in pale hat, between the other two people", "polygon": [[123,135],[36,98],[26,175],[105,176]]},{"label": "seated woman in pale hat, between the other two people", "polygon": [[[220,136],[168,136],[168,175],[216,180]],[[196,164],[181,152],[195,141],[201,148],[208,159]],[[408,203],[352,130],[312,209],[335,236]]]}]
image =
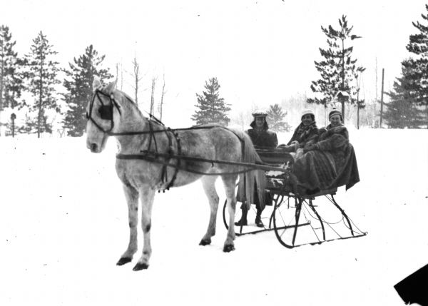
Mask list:
[{"label": "seated woman in pale hat, between the other two people", "polygon": [[285,152],[295,152],[297,149],[305,148],[305,146],[309,146],[317,141],[318,129],[314,112],[310,109],[304,109],[301,120],[302,122],[295,129],[287,145],[282,144],[278,148]]}]

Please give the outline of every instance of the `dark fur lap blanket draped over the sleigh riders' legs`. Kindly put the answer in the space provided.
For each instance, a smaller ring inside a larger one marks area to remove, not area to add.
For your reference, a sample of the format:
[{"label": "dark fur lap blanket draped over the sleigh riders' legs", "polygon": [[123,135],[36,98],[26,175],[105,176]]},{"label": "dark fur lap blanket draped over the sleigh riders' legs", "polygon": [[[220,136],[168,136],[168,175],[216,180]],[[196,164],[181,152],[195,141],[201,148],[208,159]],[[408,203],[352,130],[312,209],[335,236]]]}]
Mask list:
[{"label": "dark fur lap blanket draped over the sleigh riders' legs", "polygon": [[339,153],[309,151],[295,161],[299,192],[311,195],[346,185],[351,188],[360,181],[357,158],[351,144]]}]

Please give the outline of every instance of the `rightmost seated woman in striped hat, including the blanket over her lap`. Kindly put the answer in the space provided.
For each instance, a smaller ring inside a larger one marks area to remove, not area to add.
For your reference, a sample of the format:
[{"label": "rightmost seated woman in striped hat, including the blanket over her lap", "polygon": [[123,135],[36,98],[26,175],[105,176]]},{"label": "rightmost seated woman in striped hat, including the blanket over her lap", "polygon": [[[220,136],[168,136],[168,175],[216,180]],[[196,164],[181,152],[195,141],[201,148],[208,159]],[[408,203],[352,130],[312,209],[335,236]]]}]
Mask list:
[{"label": "rightmost seated woman in striped hat, including the blanket over her lap", "polygon": [[330,124],[319,131],[317,143],[303,148],[304,154],[295,161],[301,193],[314,194],[346,185],[351,188],[360,181],[354,148],[340,111],[329,113]]}]

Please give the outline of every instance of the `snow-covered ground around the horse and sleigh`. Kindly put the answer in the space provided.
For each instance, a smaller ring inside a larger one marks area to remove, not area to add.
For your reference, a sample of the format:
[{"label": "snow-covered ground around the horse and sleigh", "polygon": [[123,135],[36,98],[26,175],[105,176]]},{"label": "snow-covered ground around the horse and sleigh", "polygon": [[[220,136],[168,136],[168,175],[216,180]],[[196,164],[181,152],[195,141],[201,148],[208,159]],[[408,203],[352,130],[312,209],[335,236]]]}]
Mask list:
[{"label": "snow-covered ground around the horse and sleigh", "polygon": [[116,266],[128,213],[113,139],[92,154],[85,138],[0,138],[0,305],[403,305],[393,285],[428,263],[428,131],[350,137],[361,182],[337,200],[367,236],[290,250],[270,232],[223,253],[219,212],[201,247],[209,209],[196,182],[156,195],[140,272],[141,250]]}]

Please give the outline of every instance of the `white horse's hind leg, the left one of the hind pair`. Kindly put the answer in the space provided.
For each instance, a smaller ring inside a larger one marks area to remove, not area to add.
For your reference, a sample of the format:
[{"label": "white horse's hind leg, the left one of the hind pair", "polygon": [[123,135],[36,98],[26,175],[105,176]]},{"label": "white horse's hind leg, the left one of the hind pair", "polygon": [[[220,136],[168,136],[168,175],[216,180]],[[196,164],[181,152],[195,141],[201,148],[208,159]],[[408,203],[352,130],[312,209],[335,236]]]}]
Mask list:
[{"label": "white horse's hind leg, the left one of the hind pair", "polygon": [[207,195],[208,202],[210,203],[210,222],[208,223],[207,233],[203,235],[199,245],[209,245],[211,243],[211,237],[215,235],[215,221],[217,219],[218,210],[218,194],[215,191],[215,180],[217,176],[206,175],[202,180],[203,190]]}]

